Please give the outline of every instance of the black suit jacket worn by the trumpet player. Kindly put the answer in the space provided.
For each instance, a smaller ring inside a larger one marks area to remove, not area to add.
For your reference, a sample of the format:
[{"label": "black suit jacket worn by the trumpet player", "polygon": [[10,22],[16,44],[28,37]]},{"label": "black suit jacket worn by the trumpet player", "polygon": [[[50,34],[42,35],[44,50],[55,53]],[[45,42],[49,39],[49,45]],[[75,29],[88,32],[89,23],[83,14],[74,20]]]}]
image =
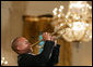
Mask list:
[{"label": "black suit jacket worn by the trumpet player", "polygon": [[18,56],[19,66],[54,66],[58,63],[59,48],[54,46],[55,42],[46,41],[44,50],[38,55],[21,54]]}]

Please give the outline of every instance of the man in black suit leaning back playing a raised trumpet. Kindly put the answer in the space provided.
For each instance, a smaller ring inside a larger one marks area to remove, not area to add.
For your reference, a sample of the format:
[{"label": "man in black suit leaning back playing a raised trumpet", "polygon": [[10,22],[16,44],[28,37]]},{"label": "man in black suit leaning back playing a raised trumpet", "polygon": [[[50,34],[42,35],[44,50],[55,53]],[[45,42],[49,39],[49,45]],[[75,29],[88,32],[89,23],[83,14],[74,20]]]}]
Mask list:
[{"label": "man in black suit leaning back playing a raised trumpet", "polygon": [[11,48],[19,54],[19,66],[54,66],[58,63],[60,45],[56,43],[55,36],[44,32],[43,40],[44,50],[37,55],[31,53],[32,44],[25,38],[19,37],[13,40]]}]

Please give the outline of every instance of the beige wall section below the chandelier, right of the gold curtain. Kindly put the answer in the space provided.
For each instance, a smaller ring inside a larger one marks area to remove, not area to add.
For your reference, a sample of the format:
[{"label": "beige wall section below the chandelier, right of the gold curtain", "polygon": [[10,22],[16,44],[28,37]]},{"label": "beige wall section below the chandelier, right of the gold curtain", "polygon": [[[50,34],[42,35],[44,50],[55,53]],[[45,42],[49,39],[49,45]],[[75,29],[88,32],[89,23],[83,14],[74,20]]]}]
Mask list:
[{"label": "beige wall section below the chandelier, right of the gold curtain", "polygon": [[72,43],[72,66],[90,66],[92,65],[92,41]]}]

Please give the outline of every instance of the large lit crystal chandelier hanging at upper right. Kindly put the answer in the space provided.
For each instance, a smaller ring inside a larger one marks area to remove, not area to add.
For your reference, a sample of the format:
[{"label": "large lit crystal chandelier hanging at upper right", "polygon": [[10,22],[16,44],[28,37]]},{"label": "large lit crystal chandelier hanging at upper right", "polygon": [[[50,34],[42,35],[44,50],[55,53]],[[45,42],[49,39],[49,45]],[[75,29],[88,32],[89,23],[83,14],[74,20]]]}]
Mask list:
[{"label": "large lit crystal chandelier hanging at upper right", "polygon": [[53,26],[55,31],[63,25],[68,28],[58,31],[58,35],[68,42],[88,42],[92,40],[92,6],[86,1],[70,1],[67,14],[63,13],[63,5],[53,11]]}]

